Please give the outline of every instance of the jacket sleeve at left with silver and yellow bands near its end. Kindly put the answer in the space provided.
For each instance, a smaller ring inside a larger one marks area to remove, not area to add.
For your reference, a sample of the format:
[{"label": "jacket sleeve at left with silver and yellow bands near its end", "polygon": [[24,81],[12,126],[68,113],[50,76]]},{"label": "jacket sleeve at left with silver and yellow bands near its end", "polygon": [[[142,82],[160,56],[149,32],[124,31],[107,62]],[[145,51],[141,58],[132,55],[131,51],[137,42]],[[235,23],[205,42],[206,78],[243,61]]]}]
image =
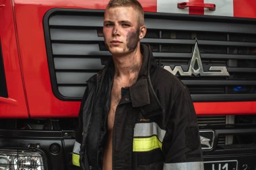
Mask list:
[{"label": "jacket sleeve at left with silver and yellow bands near its end", "polygon": [[81,101],[81,105],[80,105],[80,110],[79,110],[79,115],[78,115],[78,128],[75,131],[75,143],[73,146],[73,153],[72,153],[72,164],[79,167],[80,163],[79,163],[79,152],[80,152],[80,146],[81,146],[81,142],[82,142],[82,132],[83,132],[83,119],[82,119],[82,110],[84,108],[84,104],[86,101],[86,98],[88,97],[88,88],[86,88],[86,91],[84,93],[84,96],[82,98]]}]

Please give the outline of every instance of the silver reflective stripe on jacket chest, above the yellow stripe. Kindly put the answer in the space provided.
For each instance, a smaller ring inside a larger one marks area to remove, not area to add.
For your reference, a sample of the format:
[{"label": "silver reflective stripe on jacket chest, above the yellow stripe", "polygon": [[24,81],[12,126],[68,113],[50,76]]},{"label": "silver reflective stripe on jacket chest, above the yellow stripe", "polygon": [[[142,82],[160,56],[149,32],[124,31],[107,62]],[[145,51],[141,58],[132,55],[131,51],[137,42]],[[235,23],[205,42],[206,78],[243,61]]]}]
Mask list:
[{"label": "silver reflective stripe on jacket chest, above the yellow stripe", "polygon": [[135,124],[134,137],[146,137],[156,135],[160,142],[164,139],[166,130],[162,130],[155,122]]}]

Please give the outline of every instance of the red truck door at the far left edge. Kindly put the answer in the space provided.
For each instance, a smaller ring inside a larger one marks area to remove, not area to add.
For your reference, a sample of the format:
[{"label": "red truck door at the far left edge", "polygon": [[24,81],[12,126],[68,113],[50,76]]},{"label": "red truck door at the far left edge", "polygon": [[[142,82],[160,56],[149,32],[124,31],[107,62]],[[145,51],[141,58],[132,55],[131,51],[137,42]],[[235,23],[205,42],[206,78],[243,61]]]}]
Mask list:
[{"label": "red truck door at the far left edge", "polygon": [[0,118],[28,118],[11,1],[0,1]]}]

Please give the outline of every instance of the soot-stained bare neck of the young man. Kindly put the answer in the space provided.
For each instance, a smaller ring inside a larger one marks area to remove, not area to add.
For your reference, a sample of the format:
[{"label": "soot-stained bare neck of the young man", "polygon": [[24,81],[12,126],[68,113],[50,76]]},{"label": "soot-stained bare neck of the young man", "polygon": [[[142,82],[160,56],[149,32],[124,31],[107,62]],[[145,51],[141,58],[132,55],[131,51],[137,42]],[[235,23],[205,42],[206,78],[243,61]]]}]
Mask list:
[{"label": "soot-stained bare neck of the young man", "polygon": [[142,65],[142,58],[139,45],[129,54],[123,56],[113,55],[115,77],[127,80],[137,79]]}]

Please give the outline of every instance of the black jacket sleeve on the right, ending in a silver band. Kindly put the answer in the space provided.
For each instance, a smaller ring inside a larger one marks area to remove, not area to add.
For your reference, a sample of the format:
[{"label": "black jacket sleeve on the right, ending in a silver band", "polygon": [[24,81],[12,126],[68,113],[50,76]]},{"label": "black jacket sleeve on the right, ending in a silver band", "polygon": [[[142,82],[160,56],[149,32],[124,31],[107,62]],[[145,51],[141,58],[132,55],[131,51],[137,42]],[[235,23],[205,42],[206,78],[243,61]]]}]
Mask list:
[{"label": "black jacket sleeve on the right, ending in a silver band", "polygon": [[199,129],[187,87],[171,99],[162,151],[164,170],[203,170]]}]

